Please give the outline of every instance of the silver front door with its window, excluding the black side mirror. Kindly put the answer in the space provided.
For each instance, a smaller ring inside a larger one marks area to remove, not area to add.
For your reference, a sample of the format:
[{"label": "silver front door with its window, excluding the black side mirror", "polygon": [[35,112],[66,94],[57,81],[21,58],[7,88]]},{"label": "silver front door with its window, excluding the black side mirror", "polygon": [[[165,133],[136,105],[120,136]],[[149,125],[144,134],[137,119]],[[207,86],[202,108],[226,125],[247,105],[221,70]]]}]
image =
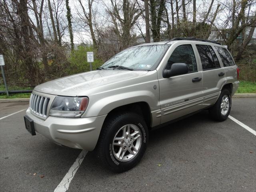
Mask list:
[{"label": "silver front door with its window, excluding the black side mirror", "polygon": [[170,69],[174,63],[186,63],[188,74],[163,78],[162,70],[158,71],[161,124],[202,108],[203,77],[194,51],[191,44],[178,42],[172,45],[170,58],[164,67]]}]

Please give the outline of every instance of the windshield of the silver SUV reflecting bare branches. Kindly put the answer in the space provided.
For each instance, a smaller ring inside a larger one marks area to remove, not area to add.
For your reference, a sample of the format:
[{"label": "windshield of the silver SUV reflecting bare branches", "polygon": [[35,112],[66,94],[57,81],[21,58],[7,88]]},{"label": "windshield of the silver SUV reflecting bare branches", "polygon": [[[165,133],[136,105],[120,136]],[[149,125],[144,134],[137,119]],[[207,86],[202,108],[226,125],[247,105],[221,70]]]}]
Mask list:
[{"label": "windshield of the silver SUV reflecting bare branches", "polygon": [[116,67],[123,66],[132,70],[154,70],[160,63],[169,47],[170,45],[147,45],[131,47],[116,54],[114,57],[104,63],[101,68],[124,70],[125,68]]}]

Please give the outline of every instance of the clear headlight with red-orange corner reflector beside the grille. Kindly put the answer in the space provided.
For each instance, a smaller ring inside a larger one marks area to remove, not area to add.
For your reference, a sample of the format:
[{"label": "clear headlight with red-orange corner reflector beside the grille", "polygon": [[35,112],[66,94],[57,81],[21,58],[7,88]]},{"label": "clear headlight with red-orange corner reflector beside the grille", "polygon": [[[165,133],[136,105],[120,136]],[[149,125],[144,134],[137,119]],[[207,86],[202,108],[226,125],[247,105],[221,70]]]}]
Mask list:
[{"label": "clear headlight with red-orange corner reflector beside the grille", "polygon": [[88,97],[56,96],[50,109],[50,116],[80,117],[89,103]]}]

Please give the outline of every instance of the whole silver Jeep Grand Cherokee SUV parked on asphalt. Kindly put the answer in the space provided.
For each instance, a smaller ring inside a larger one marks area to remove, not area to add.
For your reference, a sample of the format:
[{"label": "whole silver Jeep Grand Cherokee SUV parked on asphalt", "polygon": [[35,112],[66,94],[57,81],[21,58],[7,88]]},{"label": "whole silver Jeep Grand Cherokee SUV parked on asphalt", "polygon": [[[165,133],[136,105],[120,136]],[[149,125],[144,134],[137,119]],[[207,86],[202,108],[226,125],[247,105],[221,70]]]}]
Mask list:
[{"label": "whole silver Jeep Grand Cherokee SUV parked on asphalt", "polygon": [[98,70],[36,86],[26,129],[63,146],[96,148],[108,168],[123,172],[142,158],[149,130],[204,109],[226,120],[238,73],[216,42],[174,38],[133,46]]}]

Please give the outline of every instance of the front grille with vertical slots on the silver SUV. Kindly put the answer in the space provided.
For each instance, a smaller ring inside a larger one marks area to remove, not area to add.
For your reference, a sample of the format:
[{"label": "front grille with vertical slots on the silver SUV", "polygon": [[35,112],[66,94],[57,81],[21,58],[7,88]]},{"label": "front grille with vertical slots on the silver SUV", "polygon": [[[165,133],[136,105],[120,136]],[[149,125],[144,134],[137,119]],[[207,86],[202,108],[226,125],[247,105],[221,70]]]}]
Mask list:
[{"label": "front grille with vertical slots on the silver SUV", "polygon": [[50,98],[39,96],[32,93],[29,102],[30,111],[32,111],[34,114],[42,118],[46,118],[49,101]]}]

